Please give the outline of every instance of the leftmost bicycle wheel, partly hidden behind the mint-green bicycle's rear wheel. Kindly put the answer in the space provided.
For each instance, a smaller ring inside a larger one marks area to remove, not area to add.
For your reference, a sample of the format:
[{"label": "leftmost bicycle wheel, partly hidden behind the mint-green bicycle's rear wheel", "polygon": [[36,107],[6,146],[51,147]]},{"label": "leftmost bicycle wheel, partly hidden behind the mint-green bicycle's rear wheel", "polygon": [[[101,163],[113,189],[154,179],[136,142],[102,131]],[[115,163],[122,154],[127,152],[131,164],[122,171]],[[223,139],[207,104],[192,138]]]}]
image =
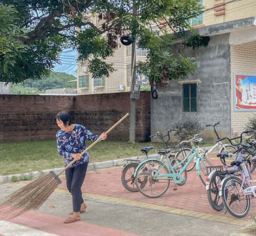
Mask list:
[{"label": "leftmost bicycle wheel, partly hidden behind the mint-green bicycle's rear wheel", "polygon": [[[122,175],[121,175],[122,184],[127,190],[131,192],[139,191],[136,187],[135,178],[134,178],[135,169],[138,167],[139,164],[140,163],[138,162],[130,163],[127,166],[125,166],[124,170],[122,171]],[[147,181],[146,179],[143,180],[143,182],[146,182],[146,181]]]}]

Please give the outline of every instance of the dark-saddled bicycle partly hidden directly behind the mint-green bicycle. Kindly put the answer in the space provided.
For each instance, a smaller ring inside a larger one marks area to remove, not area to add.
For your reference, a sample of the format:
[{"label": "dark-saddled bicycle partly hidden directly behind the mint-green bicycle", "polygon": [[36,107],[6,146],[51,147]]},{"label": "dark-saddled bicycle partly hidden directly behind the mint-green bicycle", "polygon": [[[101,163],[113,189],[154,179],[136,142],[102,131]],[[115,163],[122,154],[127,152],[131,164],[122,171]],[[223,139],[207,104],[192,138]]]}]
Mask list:
[{"label": "dark-saddled bicycle partly hidden directly behind the mint-green bicycle", "polygon": [[[174,145],[168,146],[168,142],[170,141],[170,132],[173,132],[173,131],[168,130],[168,133],[166,135],[162,135],[162,134],[159,134],[159,132],[157,132],[155,135],[152,135],[150,137],[159,136],[162,139],[162,141],[165,143],[165,147],[167,148],[167,149],[161,148],[161,149],[157,150],[157,154],[158,154],[157,157],[159,157],[157,159],[164,161],[164,159],[166,159],[168,157],[169,160],[171,161],[172,165],[175,165],[175,164],[178,164],[178,160],[175,158],[175,153],[177,152],[177,150]],[[166,137],[168,137],[168,139],[166,139]],[[152,146],[140,147],[140,151],[142,153],[145,153],[146,159],[148,159],[149,158],[148,152],[153,148],[154,147],[152,147]],[[136,167],[141,163],[141,161],[140,160],[127,160],[127,161],[130,161],[131,163],[125,164],[122,169],[122,175],[121,175],[122,184],[127,190],[129,190],[131,192],[139,191],[135,185],[134,172],[135,172]],[[184,173],[184,181],[179,184],[180,185],[185,184],[186,179],[187,179],[187,175],[186,175],[186,173]],[[144,186],[143,184],[146,181],[147,181],[147,179],[144,179],[141,182],[141,188],[143,188],[143,186]]]}]

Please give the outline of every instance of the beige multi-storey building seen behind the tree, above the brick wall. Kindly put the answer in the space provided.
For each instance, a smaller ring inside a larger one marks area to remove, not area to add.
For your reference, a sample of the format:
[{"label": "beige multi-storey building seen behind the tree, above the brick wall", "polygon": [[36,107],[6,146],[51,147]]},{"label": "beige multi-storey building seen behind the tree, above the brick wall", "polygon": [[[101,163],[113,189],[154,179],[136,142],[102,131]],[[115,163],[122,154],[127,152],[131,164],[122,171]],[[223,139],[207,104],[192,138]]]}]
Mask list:
[{"label": "beige multi-storey building seen behind the tree, above the brick wall", "polygon": [[[92,23],[95,26],[100,26],[97,17],[90,15]],[[105,35],[103,35],[104,37]],[[102,93],[116,93],[116,92],[129,92],[131,86],[131,45],[124,46],[115,50],[114,56],[106,59],[106,62],[113,63],[115,72],[106,78],[93,78],[88,71],[86,61],[77,63],[77,93],[78,94],[102,94]],[[145,61],[147,51],[137,48],[136,61]],[[148,78],[139,73],[136,75],[136,82],[141,85],[148,84]]]}]

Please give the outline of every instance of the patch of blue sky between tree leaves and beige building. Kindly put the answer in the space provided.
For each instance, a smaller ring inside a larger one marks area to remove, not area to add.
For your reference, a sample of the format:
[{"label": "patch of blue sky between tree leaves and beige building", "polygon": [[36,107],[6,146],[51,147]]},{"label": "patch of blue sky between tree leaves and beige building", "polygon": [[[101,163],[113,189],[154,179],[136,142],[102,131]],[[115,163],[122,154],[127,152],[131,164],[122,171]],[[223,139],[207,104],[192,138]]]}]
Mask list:
[{"label": "patch of blue sky between tree leaves and beige building", "polygon": [[76,51],[72,49],[64,50],[61,54],[62,65],[56,64],[55,72],[65,72],[70,75],[75,75],[76,67]]}]

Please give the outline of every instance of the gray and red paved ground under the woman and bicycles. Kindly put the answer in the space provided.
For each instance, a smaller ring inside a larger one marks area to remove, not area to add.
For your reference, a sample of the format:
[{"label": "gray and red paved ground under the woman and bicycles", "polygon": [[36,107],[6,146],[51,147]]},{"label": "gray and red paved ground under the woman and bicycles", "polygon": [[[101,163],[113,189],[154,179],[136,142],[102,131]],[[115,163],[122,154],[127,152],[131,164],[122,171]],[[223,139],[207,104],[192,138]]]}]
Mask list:
[{"label": "gray and red paved ground under the woman and bicycles", "polygon": [[[219,159],[213,158],[214,156],[210,156],[212,164],[221,164]],[[49,236],[229,236],[235,230],[251,225],[250,217],[256,215],[254,199],[251,199],[249,213],[242,219],[230,216],[228,212],[225,213],[225,209],[214,211],[208,203],[206,189],[195,170],[188,172],[185,185],[174,191],[174,184],[171,182],[167,192],[156,199],[146,198],[140,192],[126,190],[121,183],[121,173],[122,167],[87,172],[82,191],[88,209],[81,214],[81,221],[73,224],[63,224],[69,217],[68,212],[72,210],[72,201],[66,189],[65,177],[62,176],[63,183],[37,212],[26,212],[9,220],[2,218],[0,236],[29,235],[19,234],[21,231],[15,231],[15,227],[8,225],[11,223],[37,230],[37,233],[49,233]],[[253,178],[256,179],[256,173]],[[1,184],[0,201],[24,184],[26,183]],[[14,234],[1,231],[6,225],[14,230]]]}]

